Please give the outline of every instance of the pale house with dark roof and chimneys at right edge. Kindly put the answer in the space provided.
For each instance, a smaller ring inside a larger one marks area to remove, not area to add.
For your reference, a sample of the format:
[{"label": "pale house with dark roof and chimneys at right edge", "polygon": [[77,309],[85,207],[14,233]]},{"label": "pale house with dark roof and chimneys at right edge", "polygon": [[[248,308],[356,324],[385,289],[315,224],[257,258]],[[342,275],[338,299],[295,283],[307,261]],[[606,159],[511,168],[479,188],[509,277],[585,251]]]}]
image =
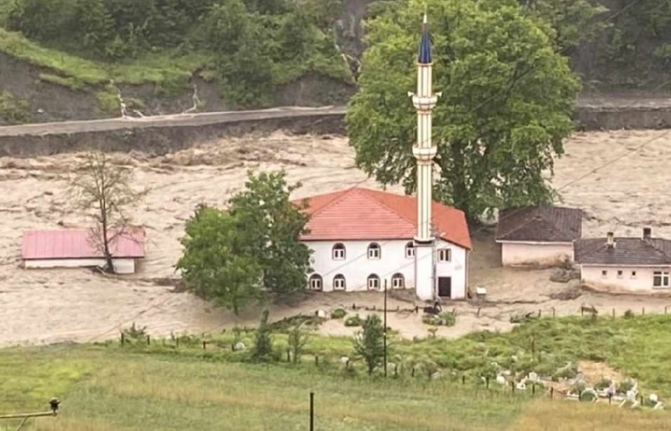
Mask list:
[{"label": "pale house with dark roof and chimneys at right edge", "polygon": [[636,292],[669,292],[671,240],[654,238],[645,227],[640,237],[581,239],[575,243],[575,262],[583,283],[594,287]]}]

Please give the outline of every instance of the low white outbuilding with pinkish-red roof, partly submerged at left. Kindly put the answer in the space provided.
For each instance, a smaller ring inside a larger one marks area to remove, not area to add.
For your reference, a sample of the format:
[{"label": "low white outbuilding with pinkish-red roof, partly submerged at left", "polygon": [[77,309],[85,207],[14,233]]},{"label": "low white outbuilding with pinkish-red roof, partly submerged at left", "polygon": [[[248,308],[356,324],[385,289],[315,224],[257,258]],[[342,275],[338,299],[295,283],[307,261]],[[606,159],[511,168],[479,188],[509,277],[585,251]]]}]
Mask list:
[{"label": "low white outbuilding with pinkish-red roof, partly submerged at left", "polygon": [[[105,259],[86,229],[29,230],[23,234],[21,257],[24,268],[103,267]],[[133,274],[145,257],[145,234],[137,229],[117,236],[110,243],[117,274]]]}]

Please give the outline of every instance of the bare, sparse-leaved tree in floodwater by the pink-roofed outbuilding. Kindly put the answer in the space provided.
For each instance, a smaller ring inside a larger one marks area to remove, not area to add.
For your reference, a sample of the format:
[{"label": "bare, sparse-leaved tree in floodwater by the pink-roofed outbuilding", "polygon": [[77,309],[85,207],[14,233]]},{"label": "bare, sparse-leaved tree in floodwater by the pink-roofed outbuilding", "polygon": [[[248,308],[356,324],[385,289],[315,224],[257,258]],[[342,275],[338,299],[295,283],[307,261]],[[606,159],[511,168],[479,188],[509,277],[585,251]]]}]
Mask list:
[{"label": "bare, sparse-leaved tree in floodwater by the pink-roofed outbuilding", "polygon": [[115,271],[111,245],[133,229],[126,210],[147,192],[131,188],[131,169],[115,165],[106,153],[87,153],[76,169],[68,189],[72,202],[95,220],[89,241],[105,257],[106,272]]}]

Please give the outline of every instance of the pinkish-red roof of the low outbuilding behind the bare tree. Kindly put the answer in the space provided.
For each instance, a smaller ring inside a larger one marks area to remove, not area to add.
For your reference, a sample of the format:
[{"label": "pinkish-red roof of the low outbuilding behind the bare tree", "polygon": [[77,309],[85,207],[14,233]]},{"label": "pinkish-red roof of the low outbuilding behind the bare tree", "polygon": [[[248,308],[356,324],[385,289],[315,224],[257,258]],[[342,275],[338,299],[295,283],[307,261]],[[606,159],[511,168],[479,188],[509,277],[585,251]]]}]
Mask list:
[{"label": "pinkish-red roof of the low outbuilding behind the bare tree", "polygon": [[[21,257],[29,259],[86,259],[103,257],[89,241],[86,229],[29,230],[23,233]],[[144,257],[142,231],[118,236],[110,244],[114,257]]]}]

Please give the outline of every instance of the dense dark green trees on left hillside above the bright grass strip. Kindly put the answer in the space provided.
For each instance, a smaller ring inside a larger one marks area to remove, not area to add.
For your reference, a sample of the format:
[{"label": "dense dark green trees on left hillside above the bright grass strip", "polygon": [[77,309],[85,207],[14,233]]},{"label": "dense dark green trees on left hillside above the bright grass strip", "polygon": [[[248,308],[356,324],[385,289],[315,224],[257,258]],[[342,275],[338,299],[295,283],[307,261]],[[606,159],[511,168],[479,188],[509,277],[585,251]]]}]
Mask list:
[{"label": "dense dark green trees on left hillside above the bright grass strip", "polygon": [[52,48],[108,62],[198,52],[227,101],[259,106],[305,71],[351,79],[315,8],[324,1],[16,0],[6,21]]}]

